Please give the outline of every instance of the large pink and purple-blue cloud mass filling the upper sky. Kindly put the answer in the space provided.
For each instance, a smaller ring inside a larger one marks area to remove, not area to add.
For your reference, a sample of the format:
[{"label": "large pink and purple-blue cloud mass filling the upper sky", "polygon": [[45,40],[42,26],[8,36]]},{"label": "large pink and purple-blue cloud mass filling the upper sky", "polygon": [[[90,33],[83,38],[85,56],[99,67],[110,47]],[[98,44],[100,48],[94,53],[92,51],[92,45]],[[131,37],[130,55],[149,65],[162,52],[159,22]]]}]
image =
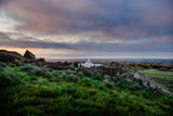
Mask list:
[{"label": "large pink and purple-blue cloud mass filling the upper sky", "polygon": [[[109,35],[123,28],[127,36],[171,35],[173,12],[171,0],[11,0],[8,8],[26,20],[19,29],[46,34],[75,34],[102,30]],[[128,30],[132,29],[138,34]]]}]

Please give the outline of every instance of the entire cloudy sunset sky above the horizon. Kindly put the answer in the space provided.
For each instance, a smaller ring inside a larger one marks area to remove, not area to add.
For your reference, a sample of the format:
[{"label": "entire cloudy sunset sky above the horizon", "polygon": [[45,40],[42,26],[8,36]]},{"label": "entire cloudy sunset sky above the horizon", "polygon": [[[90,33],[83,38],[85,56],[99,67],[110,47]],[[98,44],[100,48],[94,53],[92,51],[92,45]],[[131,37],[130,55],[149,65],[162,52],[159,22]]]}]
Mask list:
[{"label": "entire cloudy sunset sky above the horizon", "polygon": [[0,49],[45,59],[173,59],[173,0],[0,0]]}]

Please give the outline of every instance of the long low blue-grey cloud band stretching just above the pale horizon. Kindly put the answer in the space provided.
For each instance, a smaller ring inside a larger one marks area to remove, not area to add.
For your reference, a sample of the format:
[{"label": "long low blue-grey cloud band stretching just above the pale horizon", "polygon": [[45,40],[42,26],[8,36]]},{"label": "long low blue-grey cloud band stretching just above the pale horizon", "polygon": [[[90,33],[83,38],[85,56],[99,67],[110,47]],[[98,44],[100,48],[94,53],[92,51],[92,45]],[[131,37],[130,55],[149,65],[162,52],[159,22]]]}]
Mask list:
[{"label": "long low blue-grey cloud band stretching just above the pale horizon", "polygon": [[[77,51],[97,51],[97,52],[173,52],[173,37],[155,39],[152,42],[136,43],[95,43],[95,42],[77,42],[61,43],[41,41],[35,38],[13,40],[8,35],[0,33],[2,42],[0,46],[18,47],[18,48],[38,48],[38,49],[68,49]],[[35,41],[30,41],[35,40]]]}]

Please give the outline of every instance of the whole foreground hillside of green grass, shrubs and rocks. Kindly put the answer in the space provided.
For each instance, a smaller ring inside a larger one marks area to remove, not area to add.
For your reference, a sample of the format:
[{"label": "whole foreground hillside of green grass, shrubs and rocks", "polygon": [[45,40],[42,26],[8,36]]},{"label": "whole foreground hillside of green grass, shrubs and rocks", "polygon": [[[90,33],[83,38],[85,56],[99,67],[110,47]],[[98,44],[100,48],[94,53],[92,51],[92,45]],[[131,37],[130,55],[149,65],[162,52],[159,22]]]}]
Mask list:
[{"label": "whole foreground hillside of green grass, shrubs and rocks", "polygon": [[25,62],[0,62],[0,115],[173,113],[169,88],[125,66],[83,68],[43,60]]}]

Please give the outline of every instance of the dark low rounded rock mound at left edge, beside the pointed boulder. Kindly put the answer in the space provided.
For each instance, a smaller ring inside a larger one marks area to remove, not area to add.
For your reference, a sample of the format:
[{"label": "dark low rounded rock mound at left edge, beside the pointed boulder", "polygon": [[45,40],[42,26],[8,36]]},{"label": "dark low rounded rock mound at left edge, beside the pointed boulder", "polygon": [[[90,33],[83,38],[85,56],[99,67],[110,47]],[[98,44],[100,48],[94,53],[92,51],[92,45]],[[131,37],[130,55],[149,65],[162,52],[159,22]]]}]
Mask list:
[{"label": "dark low rounded rock mound at left edge, beside the pointed boulder", "polygon": [[16,61],[22,62],[25,59],[17,52],[0,50],[0,62],[15,63]]}]

